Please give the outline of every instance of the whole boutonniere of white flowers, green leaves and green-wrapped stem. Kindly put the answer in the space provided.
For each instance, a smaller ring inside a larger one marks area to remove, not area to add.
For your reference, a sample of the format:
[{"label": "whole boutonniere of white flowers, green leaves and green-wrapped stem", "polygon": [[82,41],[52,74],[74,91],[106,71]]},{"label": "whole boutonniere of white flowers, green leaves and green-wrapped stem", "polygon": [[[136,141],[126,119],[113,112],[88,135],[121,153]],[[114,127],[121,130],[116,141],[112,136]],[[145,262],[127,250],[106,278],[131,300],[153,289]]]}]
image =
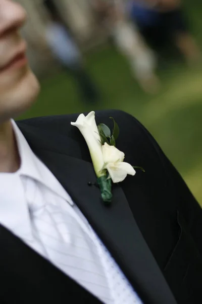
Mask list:
[{"label": "whole boutonniere of white flowers, green leaves and green-wrapped stem", "polygon": [[77,121],[71,123],[72,126],[80,130],[88,145],[97,176],[97,184],[106,204],[110,204],[112,201],[112,182],[121,182],[128,174],[135,175],[134,168],[144,171],[141,167],[133,167],[124,162],[124,153],[116,148],[119,127],[115,120],[110,118],[114,122],[112,132],[105,124],[96,125],[94,111],[91,111],[87,116],[79,115]]}]

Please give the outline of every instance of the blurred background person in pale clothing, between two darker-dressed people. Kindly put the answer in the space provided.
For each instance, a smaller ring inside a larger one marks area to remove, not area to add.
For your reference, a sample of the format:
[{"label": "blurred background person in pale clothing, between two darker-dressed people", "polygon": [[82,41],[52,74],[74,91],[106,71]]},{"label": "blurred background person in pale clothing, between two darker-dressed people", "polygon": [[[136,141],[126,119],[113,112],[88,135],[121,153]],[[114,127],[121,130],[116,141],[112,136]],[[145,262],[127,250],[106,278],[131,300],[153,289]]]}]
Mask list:
[{"label": "blurred background person in pale clothing, between two darker-dressed people", "polygon": [[124,3],[121,0],[93,0],[92,5],[117,49],[128,60],[141,88],[147,93],[156,93],[160,81],[155,73],[155,54],[145,45],[135,25],[128,21]]}]

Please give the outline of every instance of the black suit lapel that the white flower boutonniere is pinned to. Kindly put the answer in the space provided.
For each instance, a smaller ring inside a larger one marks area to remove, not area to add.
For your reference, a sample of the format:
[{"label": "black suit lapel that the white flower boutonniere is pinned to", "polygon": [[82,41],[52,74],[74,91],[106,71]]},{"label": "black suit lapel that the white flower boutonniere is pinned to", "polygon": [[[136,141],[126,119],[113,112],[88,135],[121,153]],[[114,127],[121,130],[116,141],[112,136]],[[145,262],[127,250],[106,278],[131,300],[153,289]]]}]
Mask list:
[{"label": "black suit lapel that the white flower boutonniere is pinned to", "polygon": [[[34,138],[33,141],[33,138],[25,133],[35,154],[71,195],[142,301],[145,304],[176,304],[155,258],[143,239],[122,188],[114,185],[112,205],[104,206],[99,189],[88,185],[89,181],[96,180],[91,163],[58,153],[54,141],[49,143],[48,149],[38,148],[42,145],[39,138]],[[41,136],[44,139],[44,134]],[[80,151],[79,146],[76,150]]]}]

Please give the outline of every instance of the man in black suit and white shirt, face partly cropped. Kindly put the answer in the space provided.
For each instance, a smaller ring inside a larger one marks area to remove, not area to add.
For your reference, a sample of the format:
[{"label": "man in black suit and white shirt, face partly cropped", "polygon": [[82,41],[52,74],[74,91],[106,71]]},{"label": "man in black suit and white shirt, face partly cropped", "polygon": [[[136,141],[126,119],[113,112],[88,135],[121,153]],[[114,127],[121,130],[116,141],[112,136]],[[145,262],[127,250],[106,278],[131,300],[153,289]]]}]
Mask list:
[{"label": "man in black suit and white shirt, face partly cropped", "polygon": [[[0,2],[1,303],[199,303],[202,211],[153,137],[121,111],[117,147],[142,165],[107,208],[89,184],[77,115],[25,120],[39,85],[25,57],[19,4]],[[127,134],[130,132],[130,139]]]}]

